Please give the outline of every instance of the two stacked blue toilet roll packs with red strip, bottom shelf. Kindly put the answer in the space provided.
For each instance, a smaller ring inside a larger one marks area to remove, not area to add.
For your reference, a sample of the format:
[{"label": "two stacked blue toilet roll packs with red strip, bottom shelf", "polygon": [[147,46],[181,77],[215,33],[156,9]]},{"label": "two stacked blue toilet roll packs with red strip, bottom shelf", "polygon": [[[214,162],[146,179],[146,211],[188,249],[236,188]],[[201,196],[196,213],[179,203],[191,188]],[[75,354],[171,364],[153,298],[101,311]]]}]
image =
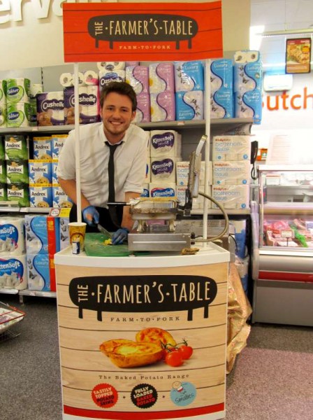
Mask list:
[{"label": "two stacked blue toilet roll packs with red strip, bottom shelf", "polygon": [[54,253],[60,250],[59,218],[25,216],[29,290],[55,291]]}]

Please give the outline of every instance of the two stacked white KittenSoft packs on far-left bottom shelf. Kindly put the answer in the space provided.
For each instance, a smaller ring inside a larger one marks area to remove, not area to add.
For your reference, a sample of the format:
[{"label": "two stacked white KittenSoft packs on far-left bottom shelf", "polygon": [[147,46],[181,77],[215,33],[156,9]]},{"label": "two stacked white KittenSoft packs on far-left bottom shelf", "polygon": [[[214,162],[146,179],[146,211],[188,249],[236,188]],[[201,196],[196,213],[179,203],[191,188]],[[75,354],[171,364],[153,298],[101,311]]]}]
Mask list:
[{"label": "two stacked white KittenSoft packs on far-left bottom shelf", "polygon": [[24,217],[0,219],[0,288],[27,288]]}]

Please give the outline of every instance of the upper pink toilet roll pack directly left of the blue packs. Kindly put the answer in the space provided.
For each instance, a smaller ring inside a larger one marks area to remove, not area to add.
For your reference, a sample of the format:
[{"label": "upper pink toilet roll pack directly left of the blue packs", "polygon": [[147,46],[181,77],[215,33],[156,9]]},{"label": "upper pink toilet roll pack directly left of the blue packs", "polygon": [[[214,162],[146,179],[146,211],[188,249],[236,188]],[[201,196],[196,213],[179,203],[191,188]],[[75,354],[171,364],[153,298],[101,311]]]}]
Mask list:
[{"label": "upper pink toilet roll pack directly left of the blue packs", "polygon": [[175,92],[174,64],[149,64],[150,93]]}]

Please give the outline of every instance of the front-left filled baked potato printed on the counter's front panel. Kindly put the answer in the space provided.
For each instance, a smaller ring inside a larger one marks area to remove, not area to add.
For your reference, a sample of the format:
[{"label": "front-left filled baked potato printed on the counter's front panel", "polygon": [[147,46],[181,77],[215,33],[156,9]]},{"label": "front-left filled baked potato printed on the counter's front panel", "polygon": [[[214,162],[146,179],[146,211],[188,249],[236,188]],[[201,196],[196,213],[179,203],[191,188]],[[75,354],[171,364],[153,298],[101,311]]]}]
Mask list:
[{"label": "front-left filled baked potato printed on the counter's front panel", "polygon": [[128,342],[116,346],[108,356],[117,367],[138,367],[159,362],[163,349],[153,343]]}]

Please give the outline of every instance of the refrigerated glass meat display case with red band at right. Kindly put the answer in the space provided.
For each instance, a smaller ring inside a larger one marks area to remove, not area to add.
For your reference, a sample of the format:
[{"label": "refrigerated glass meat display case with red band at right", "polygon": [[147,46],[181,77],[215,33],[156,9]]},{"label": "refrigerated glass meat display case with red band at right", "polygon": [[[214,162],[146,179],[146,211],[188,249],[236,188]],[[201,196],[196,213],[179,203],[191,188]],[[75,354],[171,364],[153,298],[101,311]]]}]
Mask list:
[{"label": "refrigerated glass meat display case with red band at right", "polygon": [[252,321],[313,325],[313,166],[262,165],[258,189]]}]

